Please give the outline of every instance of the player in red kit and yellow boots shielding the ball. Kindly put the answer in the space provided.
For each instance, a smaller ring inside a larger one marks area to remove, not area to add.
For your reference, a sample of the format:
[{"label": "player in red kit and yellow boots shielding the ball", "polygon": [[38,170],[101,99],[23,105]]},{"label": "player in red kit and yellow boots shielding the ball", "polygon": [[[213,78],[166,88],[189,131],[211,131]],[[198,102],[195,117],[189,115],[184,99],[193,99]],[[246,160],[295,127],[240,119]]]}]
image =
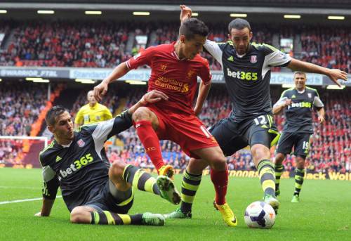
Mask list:
[{"label": "player in red kit and yellow boots shielding the ball", "polygon": [[[173,167],[162,159],[159,140],[171,140],[190,157],[201,158],[211,167],[211,180],[216,190],[216,204],[228,226],[236,226],[237,219],[225,200],[228,171],[225,156],[217,141],[197,118],[211,86],[211,73],[206,59],[199,56],[206,41],[208,28],[195,18],[185,20],[179,28],[175,43],[152,46],[121,63],[95,86],[95,98],[107,92],[107,86],[129,70],[142,65],[151,67],[149,89],[166,93],[168,100],[148,104],[134,112],[133,121],[147,155],[160,175],[173,176]],[[202,82],[195,108],[192,108],[197,89],[197,77]],[[196,163],[194,163],[196,165]],[[194,195],[199,188],[201,174],[186,170],[182,182],[182,211],[179,217],[190,218]],[[189,210],[189,211],[184,211]]]}]

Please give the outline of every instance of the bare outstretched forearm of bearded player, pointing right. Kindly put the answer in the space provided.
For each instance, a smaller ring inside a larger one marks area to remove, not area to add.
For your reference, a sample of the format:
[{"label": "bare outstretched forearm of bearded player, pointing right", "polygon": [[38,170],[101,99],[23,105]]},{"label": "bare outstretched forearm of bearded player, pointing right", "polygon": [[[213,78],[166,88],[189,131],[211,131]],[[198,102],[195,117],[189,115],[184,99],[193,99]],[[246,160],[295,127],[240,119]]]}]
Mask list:
[{"label": "bare outstretched forearm of bearded player, pointing right", "polygon": [[326,67],[314,65],[312,63],[307,63],[307,62],[303,62],[300,60],[296,60],[295,58],[292,58],[289,65],[286,67],[289,67],[289,69],[291,69],[293,71],[324,74],[324,75],[328,76],[338,86],[341,86],[338,83],[338,79],[342,79],[342,80],[347,81],[347,72],[344,72],[344,71],[338,70],[338,69],[328,69]]}]

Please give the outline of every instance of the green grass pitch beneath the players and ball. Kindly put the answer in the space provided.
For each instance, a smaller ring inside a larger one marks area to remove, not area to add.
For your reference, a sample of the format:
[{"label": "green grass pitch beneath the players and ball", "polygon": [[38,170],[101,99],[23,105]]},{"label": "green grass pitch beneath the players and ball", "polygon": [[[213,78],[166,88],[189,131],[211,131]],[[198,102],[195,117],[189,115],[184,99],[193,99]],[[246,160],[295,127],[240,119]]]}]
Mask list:
[{"label": "green grass pitch beneath the players and ball", "polygon": [[[180,189],[182,176],[176,176]],[[0,204],[0,240],[351,240],[350,181],[303,184],[301,202],[291,203],[293,179],[282,179],[281,207],[271,230],[247,228],[244,210],[263,196],[258,178],[230,178],[227,202],[237,214],[236,228],[225,226],[213,209],[213,185],[204,176],[195,198],[192,219],[166,220],[164,227],[100,226],[69,223],[62,198],[51,216],[34,217],[41,200]],[[60,195],[60,194],[58,194]],[[0,202],[41,197],[41,169],[0,169]],[[176,209],[150,193],[135,192],[130,214]]]}]

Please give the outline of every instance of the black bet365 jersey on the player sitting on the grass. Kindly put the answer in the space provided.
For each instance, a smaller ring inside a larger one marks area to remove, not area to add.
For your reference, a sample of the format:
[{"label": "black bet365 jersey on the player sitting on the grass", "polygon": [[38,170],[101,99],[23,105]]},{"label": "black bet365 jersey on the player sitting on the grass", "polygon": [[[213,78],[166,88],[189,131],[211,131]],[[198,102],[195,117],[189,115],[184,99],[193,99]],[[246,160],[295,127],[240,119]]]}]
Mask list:
[{"label": "black bet365 jersey on the player sitting on the grass", "polygon": [[44,177],[43,196],[55,199],[60,186],[69,211],[91,200],[108,180],[110,162],[105,141],[131,126],[131,115],[123,112],[106,122],[79,127],[69,145],[60,145],[54,140],[39,155]]}]

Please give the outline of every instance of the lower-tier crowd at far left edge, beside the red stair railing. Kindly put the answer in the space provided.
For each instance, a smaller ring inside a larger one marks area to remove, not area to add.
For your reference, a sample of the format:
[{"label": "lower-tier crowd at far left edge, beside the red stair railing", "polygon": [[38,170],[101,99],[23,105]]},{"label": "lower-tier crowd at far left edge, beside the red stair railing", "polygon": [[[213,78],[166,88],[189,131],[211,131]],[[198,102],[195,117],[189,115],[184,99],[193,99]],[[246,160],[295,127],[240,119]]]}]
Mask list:
[{"label": "lower-tier crowd at far left edge, beside the red stair railing", "polygon": [[[47,100],[42,84],[6,84],[0,82],[0,136],[29,136]],[[0,138],[0,164],[20,164],[22,140]]]}]

